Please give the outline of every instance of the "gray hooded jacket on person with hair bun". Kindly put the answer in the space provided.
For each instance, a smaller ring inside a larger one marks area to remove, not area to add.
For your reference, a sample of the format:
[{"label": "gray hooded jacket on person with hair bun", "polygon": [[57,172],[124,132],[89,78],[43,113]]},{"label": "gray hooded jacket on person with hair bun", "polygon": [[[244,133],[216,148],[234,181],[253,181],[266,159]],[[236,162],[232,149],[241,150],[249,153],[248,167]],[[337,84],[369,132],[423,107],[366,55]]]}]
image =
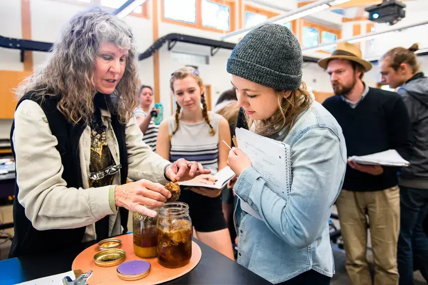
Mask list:
[{"label": "gray hooded jacket on person with hair bun", "polygon": [[409,112],[413,131],[410,166],[401,169],[399,184],[428,189],[428,78],[415,74],[397,91]]}]

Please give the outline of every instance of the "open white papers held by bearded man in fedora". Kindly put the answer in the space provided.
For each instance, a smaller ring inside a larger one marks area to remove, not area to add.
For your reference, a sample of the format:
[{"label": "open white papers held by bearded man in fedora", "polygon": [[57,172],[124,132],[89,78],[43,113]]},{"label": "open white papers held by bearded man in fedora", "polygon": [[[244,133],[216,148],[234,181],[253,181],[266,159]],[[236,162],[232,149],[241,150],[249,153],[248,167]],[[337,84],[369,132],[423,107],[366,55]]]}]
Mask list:
[{"label": "open white papers held by bearded man in fedora", "polygon": [[363,156],[350,156],[349,160],[366,165],[409,166],[410,164],[395,149]]}]

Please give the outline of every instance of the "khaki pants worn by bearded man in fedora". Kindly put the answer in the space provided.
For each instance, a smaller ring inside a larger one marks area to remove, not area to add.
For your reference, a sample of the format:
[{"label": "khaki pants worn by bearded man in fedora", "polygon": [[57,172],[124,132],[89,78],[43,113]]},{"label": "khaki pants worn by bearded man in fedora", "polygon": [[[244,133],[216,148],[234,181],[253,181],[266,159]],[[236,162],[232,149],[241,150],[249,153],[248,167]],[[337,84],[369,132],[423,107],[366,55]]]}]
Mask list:
[{"label": "khaki pants worn by bearded man in fedora", "polygon": [[366,213],[369,216],[375,260],[374,284],[398,284],[397,241],[400,230],[398,186],[376,192],[342,190],[336,204],[346,252],[346,271],[352,284],[372,284],[366,258]]}]

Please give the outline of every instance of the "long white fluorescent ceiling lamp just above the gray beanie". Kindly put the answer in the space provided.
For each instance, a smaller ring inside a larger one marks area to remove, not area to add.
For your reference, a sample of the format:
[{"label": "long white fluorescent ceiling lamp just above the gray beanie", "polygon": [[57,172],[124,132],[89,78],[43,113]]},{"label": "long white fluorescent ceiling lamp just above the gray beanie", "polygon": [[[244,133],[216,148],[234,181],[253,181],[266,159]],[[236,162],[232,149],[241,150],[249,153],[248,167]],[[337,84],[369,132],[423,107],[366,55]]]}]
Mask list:
[{"label": "long white fluorescent ceiling lamp just above the gray beanie", "polygon": [[339,4],[348,2],[348,1],[350,1],[350,0],[319,0],[317,2],[302,6],[295,11],[291,11],[291,12],[288,12],[285,14],[281,14],[281,15],[269,18],[266,21],[264,21],[263,23],[255,25],[253,27],[243,28],[243,29],[233,31],[231,33],[227,33],[226,35],[221,36],[220,39],[225,40],[225,39],[228,39],[231,37],[242,37],[246,33],[248,33],[249,31],[251,31],[255,28],[258,28],[265,23],[273,22],[273,23],[283,24],[285,22],[290,22],[290,21],[293,21],[296,19],[300,19],[302,17],[305,17],[305,16],[311,15],[313,13],[329,9],[332,6],[339,5]]}]

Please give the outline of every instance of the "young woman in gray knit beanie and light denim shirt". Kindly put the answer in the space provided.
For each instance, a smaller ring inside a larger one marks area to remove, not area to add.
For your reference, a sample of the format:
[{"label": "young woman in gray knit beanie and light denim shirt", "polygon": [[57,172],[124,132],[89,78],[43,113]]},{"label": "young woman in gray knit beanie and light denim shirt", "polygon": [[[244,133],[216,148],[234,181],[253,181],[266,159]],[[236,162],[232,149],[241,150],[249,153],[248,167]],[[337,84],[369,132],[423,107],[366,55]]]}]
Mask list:
[{"label": "young woman in gray knit beanie and light denim shirt", "polygon": [[[238,263],[280,284],[329,284],[334,273],[328,219],[343,183],[342,130],[302,81],[302,50],[286,27],[265,24],[249,32],[227,63],[238,105],[251,131],[291,148],[291,191],[274,191],[239,149],[228,165],[243,212]],[[249,211],[251,212],[251,211]]]}]

